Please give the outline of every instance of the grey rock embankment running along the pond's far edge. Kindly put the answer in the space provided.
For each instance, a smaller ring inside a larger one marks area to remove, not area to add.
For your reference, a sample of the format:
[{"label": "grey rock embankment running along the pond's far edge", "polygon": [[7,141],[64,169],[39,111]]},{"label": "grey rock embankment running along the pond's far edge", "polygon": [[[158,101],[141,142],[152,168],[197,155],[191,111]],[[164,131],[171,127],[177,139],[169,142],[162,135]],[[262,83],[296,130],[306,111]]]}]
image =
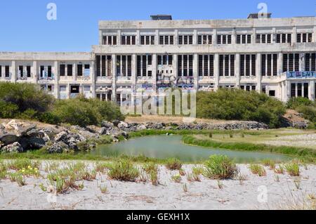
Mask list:
[{"label": "grey rock embankment running along the pond's far edge", "polygon": [[101,127],[88,126],[37,126],[24,121],[11,120],[0,124],[0,152],[26,152],[44,149],[49,153],[79,150],[93,150],[98,139],[110,136],[114,142],[119,138],[129,138],[131,131],[155,130],[252,130],[268,129],[256,121],[236,121],[228,124],[211,123],[127,123],[124,121],[103,121]]}]

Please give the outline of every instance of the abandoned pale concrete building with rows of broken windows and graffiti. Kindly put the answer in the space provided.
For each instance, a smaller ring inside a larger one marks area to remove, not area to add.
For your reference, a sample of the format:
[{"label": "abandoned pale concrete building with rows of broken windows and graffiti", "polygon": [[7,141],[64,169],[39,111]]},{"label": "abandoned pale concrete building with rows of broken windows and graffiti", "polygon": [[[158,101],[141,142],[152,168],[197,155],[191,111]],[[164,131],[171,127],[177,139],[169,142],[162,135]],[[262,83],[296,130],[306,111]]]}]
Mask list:
[{"label": "abandoned pale concrete building with rows of broken windows and graffiti", "polygon": [[55,98],[113,100],[168,87],[242,88],[287,101],[316,95],[315,17],[100,21],[90,53],[0,53],[0,81],[32,82]]}]

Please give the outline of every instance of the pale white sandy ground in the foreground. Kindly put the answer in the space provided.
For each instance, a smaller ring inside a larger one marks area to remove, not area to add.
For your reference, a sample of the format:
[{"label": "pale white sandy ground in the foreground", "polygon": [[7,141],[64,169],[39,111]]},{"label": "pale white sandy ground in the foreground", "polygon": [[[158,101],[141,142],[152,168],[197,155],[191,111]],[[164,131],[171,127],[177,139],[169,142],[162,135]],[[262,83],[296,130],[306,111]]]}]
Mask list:
[{"label": "pale white sandy ground in the foreground", "polygon": [[[88,166],[93,166],[87,162]],[[188,173],[193,165],[185,165]],[[0,180],[0,209],[287,209],[298,199],[303,202],[307,195],[316,194],[316,166],[310,165],[306,170],[301,167],[301,177],[293,178],[288,174],[267,171],[267,176],[259,177],[249,171],[248,165],[239,164],[240,173],[247,180],[223,180],[223,189],[219,189],[217,180],[204,177],[201,182],[188,183],[183,177],[181,183],[171,180],[177,171],[168,171],[160,166],[159,182],[128,183],[109,180],[106,174],[98,174],[97,180],[84,181],[84,189],[71,190],[65,195],[44,192],[40,183],[48,185],[43,178],[27,178],[27,185],[19,187],[10,180]],[[46,173],[41,171],[46,176]],[[299,189],[294,180],[300,180]],[[81,182],[80,182],[81,183]],[[183,190],[187,185],[187,192]],[[99,185],[107,185],[108,192],[100,192]],[[266,192],[266,194],[265,194]],[[266,195],[266,201],[265,201]],[[258,200],[259,198],[259,200]]]}]

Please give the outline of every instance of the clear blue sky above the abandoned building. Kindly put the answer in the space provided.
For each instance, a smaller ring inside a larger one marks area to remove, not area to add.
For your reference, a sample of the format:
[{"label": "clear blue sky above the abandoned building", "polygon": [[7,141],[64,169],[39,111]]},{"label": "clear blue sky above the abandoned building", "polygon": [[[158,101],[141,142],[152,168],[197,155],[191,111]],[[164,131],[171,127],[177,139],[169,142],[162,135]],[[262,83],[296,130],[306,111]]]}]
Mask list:
[{"label": "clear blue sky above the abandoned building", "polygon": [[[0,51],[91,51],[98,20],[246,18],[268,5],[273,18],[316,14],[315,0],[1,0]],[[55,3],[57,20],[47,20]]]}]

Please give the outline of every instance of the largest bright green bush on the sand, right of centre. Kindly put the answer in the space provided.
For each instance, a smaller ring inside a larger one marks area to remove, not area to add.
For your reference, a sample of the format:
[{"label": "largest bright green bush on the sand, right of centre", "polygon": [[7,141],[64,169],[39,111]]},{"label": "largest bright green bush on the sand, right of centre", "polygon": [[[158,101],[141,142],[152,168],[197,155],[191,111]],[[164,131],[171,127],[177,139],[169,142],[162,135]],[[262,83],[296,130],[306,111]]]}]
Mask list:
[{"label": "largest bright green bush on the sand, right of centre", "polygon": [[238,173],[237,166],[227,156],[213,155],[205,162],[204,176],[210,179],[234,178]]}]

